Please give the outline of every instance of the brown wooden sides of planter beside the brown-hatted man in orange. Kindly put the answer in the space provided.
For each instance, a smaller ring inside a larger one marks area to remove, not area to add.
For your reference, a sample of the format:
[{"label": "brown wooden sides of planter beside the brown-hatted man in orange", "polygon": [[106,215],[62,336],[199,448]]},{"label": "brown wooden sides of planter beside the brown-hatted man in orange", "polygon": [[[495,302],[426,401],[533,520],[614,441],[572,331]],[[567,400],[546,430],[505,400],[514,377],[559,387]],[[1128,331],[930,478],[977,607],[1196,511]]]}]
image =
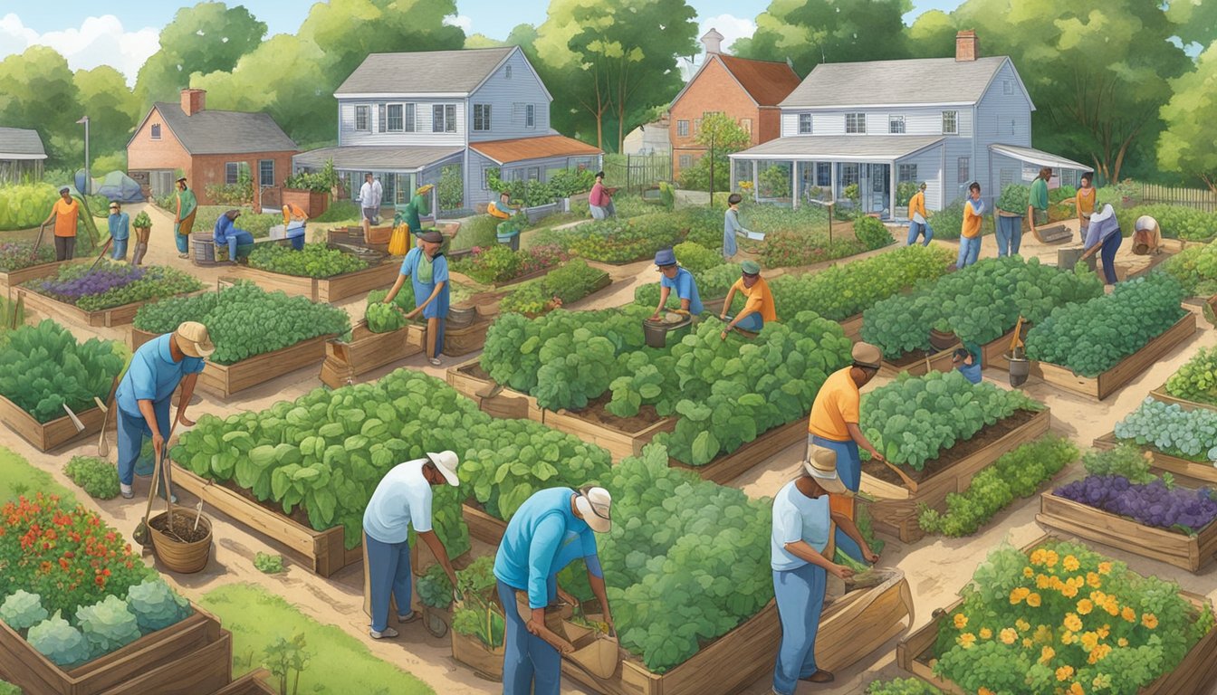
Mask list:
[{"label": "brown wooden sides of planter beside the brown-hatted man in orange", "polygon": [[[920,505],[946,511],[948,494],[966,491],[976,473],[1008,452],[1048,432],[1050,424],[1051,414],[1048,409],[1036,413],[1031,420],[996,442],[921,481],[915,486],[915,489],[881,481],[863,472],[859,489],[876,498],[868,505],[875,531],[899,538],[903,543],[916,543],[925,537],[925,532],[918,525]],[[981,430],[981,432],[983,431]],[[938,455],[940,458],[950,455],[950,449],[946,449]]]}]

